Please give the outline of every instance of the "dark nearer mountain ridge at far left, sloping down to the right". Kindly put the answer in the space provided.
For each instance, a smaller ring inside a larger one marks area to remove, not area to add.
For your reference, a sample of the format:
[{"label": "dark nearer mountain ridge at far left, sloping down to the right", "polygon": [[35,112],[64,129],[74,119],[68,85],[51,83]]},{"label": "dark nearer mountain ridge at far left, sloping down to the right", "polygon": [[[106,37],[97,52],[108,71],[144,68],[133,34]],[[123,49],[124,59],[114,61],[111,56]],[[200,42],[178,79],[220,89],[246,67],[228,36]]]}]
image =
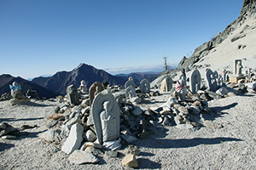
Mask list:
[{"label": "dark nearer mountain ridge at far left, sloping down to the right", "polygon": [[27,81],[21,77],[12,77],[9,74],[3,74],[0,76],[0,95],[4,93],[10,94],[10,88],[9,85],[11,85],[13,82],[18,82],[21,87],[21,93],[26,94],[28,89],[36,90],[40,98],[55,98],[58,93],[51,91],[47,88],[41,87],[38,84],[34,82]]}]

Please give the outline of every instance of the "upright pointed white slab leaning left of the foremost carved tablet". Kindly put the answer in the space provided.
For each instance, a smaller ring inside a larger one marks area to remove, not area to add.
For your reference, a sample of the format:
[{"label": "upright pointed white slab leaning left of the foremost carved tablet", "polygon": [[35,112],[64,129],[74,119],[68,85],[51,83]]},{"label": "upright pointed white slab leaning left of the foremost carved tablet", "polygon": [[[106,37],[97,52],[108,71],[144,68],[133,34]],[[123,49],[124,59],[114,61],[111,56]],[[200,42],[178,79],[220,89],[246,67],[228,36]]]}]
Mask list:
[{"label": "upright pointed white slab leaning left of the foremost carved tablet", "polygon": [[83,141],[84,127],[78,122],[71,127],[66,142],[62,146],[62,151],[70,154],[73,150],[78,150]]}]

